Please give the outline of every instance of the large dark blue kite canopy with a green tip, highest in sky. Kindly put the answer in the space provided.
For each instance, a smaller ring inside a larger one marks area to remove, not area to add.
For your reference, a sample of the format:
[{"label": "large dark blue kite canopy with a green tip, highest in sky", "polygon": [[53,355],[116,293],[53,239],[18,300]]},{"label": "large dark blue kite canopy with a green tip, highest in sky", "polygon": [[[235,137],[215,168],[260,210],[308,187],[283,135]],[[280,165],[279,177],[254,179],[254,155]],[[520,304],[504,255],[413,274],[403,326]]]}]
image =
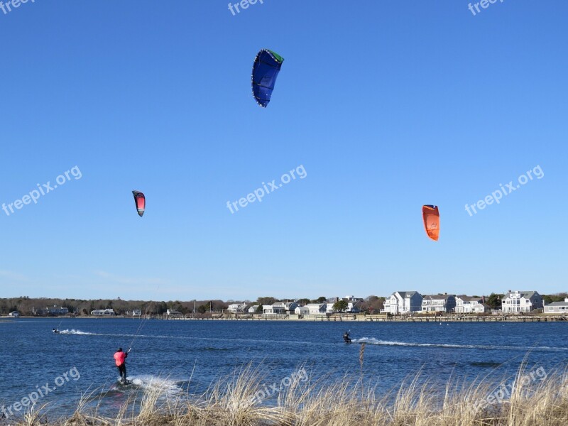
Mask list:
[{"label": "large dark blue kite canopy with a green tip, highest in sky", "polygon": [[272,91],[282,62],[284,58],[268,49],[261,50],[254,58],[253,96],[256,103],[263,108],[268,107],[268,102],[271,102]]}]

